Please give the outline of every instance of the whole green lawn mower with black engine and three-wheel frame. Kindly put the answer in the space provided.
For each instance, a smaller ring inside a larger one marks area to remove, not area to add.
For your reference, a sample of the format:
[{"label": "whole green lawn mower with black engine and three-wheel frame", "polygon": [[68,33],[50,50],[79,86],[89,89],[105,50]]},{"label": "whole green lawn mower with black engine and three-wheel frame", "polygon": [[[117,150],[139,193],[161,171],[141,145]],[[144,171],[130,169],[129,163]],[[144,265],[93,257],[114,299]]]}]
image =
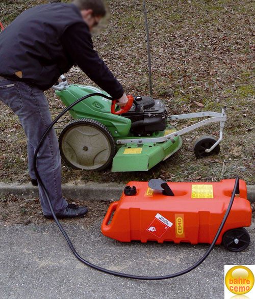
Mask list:
[{"label": "whole green lawn mower with black engine and three-wheel frame", "polygon": [[[62,82],[53,89],[66,106],[92,93],[109,97],[98,88],[68,85],[64,76],[61,79]],[[62,158],[70,167],[98,171],[112,163],[112,172],[147,171],[181,148],[182,134],[214,122],[220,123],[219,139],[199,138],[194,144],[194,153],[197,158],[219,153],[226,121],[224,109],[221,113],[168,116],[163,101],[140,95],[134,96],[134,101],[132,98],[119,111],[115,111],[114,102],[101,96],[92,96],[69,111],[74,121],[62,130],[59,147]],[[193,118],[206,119],[181,130],[168,124],[168,120]]]}]

